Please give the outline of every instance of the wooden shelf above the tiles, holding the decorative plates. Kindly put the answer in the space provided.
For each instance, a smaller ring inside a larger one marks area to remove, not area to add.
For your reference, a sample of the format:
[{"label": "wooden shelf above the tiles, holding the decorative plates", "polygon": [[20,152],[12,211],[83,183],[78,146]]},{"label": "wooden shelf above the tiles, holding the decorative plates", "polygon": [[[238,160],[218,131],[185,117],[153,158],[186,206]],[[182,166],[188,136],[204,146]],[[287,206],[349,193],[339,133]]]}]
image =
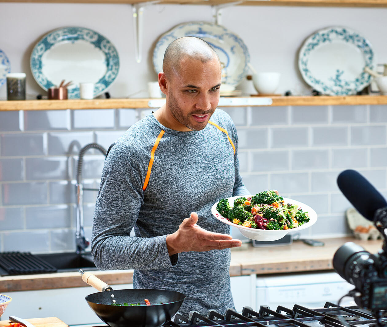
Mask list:
[{"label": "wooden shelf above the tiles, holding the decorative plates", "polygon": [[[219,107],[238,107],[238,99],[264,99],[263,97],[233,97],[233,103]],[[324,106],[324,105],[387,105],[387,95],[353,95],[353,96],[273,96],[272,106]],[[63,109],[115,109],[115,108],[152,108],[149,101],[162,99],[94,99],[94,100],[25,100],[0,101],[0,111],[12,110],[63,110]],[[247,105],[239,105],[245,107]],[[248,105],[258,106],[258,105]]]}]

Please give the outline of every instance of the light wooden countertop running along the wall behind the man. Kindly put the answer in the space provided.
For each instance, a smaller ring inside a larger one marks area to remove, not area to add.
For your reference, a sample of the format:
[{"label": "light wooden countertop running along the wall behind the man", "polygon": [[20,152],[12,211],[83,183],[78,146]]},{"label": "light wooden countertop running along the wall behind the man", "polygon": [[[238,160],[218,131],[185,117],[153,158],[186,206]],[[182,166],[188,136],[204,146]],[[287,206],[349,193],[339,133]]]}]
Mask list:
[{"label": "light wooden countertop running along the wall behind the man", "polygon": [[[359,244],[370,253],[382,248],[382,241],[361,241],[354,238],[322,239],[324,246],[310,246],[293,241],[286,246],[254,248],[246,243],[231,250],[230,276],[250,274],[279,274],[333,270],[332,258],[336,250],[346,242]],[[128,284],[133,281],[133,270],[94,271],[96,276],[110,285]],[[2,293],[65,287],[87,286],[78,272],[62,272],[36,275],[0,277]],[[1,326],[1,325],[0,325]]]}]

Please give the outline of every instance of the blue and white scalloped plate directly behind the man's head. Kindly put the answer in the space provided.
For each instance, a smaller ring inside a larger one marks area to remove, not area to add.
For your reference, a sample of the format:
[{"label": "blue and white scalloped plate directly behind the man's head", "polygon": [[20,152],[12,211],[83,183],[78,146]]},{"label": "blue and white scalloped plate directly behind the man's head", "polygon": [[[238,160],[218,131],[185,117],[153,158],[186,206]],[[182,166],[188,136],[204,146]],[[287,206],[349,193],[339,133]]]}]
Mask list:
[{"label": "blue and white scalloped plate directly behind the man's head", "polygon": [[236,86],[246,76],[250,55],[245,43],[223,26],[207,22],[180,24],[163,34],[153,51],[153,65],[156,73],[163,71],[164,52],[167,46],[183,36],[201,38],[215,49],[222,63],[222,83]]}]

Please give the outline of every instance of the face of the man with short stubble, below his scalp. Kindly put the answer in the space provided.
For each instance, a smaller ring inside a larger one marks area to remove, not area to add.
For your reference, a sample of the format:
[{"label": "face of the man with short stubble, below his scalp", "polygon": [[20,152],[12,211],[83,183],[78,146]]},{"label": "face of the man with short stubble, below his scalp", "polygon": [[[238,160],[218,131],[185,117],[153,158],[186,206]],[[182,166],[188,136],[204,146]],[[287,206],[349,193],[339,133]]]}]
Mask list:
[{"label": "face of the man with short stubble, below his scalp", "polygon": [[200,131],[207,125],[219,102],[221,79],[216,58],[180,62],[180,69],[167,82],[166,109],[173,129]]}]

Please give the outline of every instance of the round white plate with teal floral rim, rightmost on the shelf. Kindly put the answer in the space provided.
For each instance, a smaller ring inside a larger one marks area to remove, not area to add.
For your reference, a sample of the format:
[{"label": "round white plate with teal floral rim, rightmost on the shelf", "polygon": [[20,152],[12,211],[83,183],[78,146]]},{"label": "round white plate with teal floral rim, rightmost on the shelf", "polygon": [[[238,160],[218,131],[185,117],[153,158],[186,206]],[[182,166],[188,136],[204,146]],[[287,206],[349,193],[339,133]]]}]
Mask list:
[{"label": "round white plate with teal floral rim, rightmost on the shelf", "polygon": [[368,40],[353,29],[332,26],[311,35],[300,49],[298,68],[305,82],[326,95],[353,95],[368,86],[375,55]]}]

